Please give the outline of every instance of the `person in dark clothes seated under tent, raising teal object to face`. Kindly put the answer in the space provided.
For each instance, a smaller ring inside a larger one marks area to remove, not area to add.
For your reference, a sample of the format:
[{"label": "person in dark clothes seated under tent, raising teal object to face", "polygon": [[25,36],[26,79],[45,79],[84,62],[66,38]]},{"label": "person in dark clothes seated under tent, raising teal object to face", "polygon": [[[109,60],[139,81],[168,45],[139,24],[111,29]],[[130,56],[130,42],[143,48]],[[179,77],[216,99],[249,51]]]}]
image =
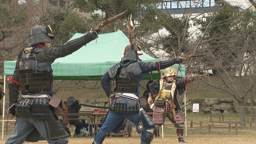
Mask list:
[{"label": "person in dark clothes seated under tent, raising teal object to face", "polygon": [[[64,101],[65,105],[67,105],[67,101]],[[78,113],[78,111],[80,110],[81,106],[79,105],[79,101],[76,100],[74,97],[69,97],[69,112],[68,113]],[[75,119],[75,118],[79,118],[79,116],[69,116],[68,115],[68,121],[70,125],[75,125],[75,133],[73,138],[79,137],[80,134],[80,130],[81,130],[81,123],[79,120]]]}]

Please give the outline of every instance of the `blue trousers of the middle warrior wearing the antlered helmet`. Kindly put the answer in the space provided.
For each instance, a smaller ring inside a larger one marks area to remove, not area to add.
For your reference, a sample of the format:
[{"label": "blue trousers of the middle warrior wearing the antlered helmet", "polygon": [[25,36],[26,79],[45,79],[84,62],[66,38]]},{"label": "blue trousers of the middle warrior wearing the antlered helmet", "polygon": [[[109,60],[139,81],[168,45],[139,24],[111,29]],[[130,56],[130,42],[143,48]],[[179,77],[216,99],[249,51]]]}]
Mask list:
[{"label": "blue trousers of the middle warrior wearing the antlered helmet", "polygon": [[[116,126],[118,126],[118,124],[123,122],[125,118],[129,119],[132,123],[136,125],[139,119],[139,112],[138,113],[116,113],[116,112],[109,111],[106,121],[103,123],[101,129],[98,131],[98,133],[95,136],[94,142],[102,144],[103,140],[107,136],[107,133],[112,132],[116,128]],[[153,128],[153,127],[149,127],[145,122],[144,124],[145,124],[144,126],[145,130]],[[147,133],[153,137],[153,135],[149,132],[144,132],[144,133]],[[141,136],[141,140],[142,140],[142,137],[143,137],[143,134]],[[146,144],[146,143],[141,142],[141,144]]]}]

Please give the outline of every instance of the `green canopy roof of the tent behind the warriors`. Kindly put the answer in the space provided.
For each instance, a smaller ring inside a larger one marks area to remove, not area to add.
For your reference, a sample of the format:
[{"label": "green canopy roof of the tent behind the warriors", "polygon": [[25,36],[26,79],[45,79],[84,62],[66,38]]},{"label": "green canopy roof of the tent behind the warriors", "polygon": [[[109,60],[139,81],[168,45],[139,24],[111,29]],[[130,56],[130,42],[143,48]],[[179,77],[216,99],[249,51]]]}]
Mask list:
[{"label": "green canopy roof of the tent behind the warriors", "polygon": [[[76,33],[69,39],[83,36],[84,33]],[[129,39],[122,31],[99,34],[97,40],[87,43],[76,52],[63,58],[58,58],[52,64],[55,80],[100,80],[102,75],[111,66],[120,62],[124,48],[129,45]],[[143,53],[143,62],[157,62],[155,59]],[[4,74],[12,75],[16,61],[4,62]],[[178,65],[176,66],[177,71]],[[181,65],[179,77],[185,76],[185,65]],[[152,79],[160,78],[157,71],[153,71]],[[143,79],[151,79],[149,73]]]}]

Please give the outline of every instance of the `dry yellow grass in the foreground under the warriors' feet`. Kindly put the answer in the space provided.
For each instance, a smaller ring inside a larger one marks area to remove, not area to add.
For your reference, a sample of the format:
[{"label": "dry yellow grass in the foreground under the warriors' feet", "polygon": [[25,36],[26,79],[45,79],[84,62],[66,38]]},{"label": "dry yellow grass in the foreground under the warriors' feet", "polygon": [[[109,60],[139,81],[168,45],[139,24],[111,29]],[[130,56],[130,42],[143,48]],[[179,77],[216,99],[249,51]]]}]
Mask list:
[{"label": "dry yellow grass in the foreground under the warriors' feet", "polygon": [[[0,140],[3,144],[7,136]],[[69,144],[91,144],[94,138],[69,138]],[[188,134],[186,141],[188,144],[255,144],[256,134]],[[107,137],[103,144],[139,144],[140,137],[133,135],[133,137]],[[31,144],[25,142],[24,144]],[[47,144],[47,141],[42,140],[37,144]],[[164,139],[154,138],[151,144],[178,144],[175,133],[165,134]]]}]

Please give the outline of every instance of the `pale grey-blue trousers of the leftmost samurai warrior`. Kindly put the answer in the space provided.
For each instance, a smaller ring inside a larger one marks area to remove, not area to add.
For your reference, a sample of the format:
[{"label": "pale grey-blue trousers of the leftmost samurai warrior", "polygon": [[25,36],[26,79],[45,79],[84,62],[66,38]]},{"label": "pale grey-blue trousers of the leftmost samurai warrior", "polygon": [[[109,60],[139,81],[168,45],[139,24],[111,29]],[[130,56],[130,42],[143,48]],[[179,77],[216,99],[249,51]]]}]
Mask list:
[{"label": "pale grey-blue trousers of the leftmost samurai warrior", "polygon": [[61,139],[48,139],[45,120],[43,119],[32,119],[28,117],[17,117],[16,125],[11,136],[6,140],[5,144],[23,144],[28,134],[32,132],[34,128],[37,128],[41,136],[47,140],[49,144],[54,144],[58,140],[64,140],[68,143],[68,138]]}]

